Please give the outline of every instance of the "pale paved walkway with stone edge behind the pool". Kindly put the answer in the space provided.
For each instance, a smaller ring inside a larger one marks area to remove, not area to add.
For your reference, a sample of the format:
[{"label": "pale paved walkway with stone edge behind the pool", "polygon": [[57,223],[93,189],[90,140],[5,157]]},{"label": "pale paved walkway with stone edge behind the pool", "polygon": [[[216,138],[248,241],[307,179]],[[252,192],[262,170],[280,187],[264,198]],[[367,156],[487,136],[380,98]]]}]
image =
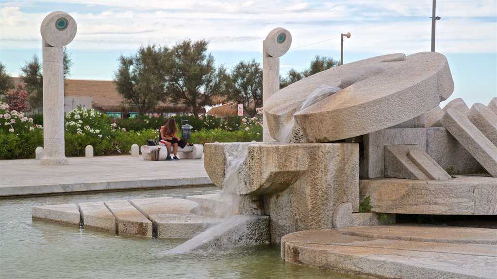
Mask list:
[{"label": "pale paved walkway with stone edge behind the pool", "polygon": [[0,197],[80,191],[213,185],[203,159],[145,161],[142,156],[70,157],[63,166],[1,160]]}]

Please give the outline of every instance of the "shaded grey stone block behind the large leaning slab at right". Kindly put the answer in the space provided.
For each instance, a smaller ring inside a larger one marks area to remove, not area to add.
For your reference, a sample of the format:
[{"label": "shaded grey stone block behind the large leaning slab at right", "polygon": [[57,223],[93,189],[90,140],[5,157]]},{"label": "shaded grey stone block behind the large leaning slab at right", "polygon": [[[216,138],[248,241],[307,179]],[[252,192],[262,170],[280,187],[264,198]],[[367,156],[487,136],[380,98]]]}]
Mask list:
[{"label": "shaded grey stone block behind the large leaning slab at right", "polygon": [[426,129],[426,153],[449,174],[471,174],[485,170],[443,127]]}]

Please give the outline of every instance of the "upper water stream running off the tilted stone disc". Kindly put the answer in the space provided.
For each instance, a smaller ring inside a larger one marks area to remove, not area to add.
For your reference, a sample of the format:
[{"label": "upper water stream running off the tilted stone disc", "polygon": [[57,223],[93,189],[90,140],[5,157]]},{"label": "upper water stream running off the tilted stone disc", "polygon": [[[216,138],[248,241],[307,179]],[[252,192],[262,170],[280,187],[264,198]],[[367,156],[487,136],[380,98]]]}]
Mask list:
[{"label": "upper water stream running off the tilted stone disc", "polygon": [[[307,98],[302,102],[300,107],[294,112],[294,114],[303,111],[304,109],[324,100],[325,98],[333,95],[334,93],[340,91],[342,88],[333,85],[321,85],[318,89],[314,90]],[[280,143],[288,143],[292,138],[292,131],[295,125],[295,117],[285,123],[285,126],[281,129]]]}]

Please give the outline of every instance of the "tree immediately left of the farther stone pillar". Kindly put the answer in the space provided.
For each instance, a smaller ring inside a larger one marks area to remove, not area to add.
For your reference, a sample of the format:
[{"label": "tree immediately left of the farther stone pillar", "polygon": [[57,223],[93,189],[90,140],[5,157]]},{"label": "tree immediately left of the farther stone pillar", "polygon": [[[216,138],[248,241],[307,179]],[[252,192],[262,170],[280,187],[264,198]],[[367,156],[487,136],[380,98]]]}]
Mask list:
[{"label": "tree immediately left of the farther stone pillar", "polygon": [[[230,74],[230,88],[227,90],[229,99],[243,104],[244,111],[251,117],[257,114],[255,110],[262,107],[262,69],[260,64],[252,59],[250,62],[240,62]],[[253,102],[253,106],[250,103]]]}]

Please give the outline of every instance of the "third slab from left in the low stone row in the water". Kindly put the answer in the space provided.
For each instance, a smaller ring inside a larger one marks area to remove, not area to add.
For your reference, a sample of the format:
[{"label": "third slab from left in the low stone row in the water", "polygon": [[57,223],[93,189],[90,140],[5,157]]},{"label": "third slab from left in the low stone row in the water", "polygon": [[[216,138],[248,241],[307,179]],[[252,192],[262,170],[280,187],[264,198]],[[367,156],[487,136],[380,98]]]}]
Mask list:
[{"label": "third slab from left in the low stone row in the water", "polygon": [[128,201],[104,204],[116,218],[119,234],[152,237],[152,222]]}]

